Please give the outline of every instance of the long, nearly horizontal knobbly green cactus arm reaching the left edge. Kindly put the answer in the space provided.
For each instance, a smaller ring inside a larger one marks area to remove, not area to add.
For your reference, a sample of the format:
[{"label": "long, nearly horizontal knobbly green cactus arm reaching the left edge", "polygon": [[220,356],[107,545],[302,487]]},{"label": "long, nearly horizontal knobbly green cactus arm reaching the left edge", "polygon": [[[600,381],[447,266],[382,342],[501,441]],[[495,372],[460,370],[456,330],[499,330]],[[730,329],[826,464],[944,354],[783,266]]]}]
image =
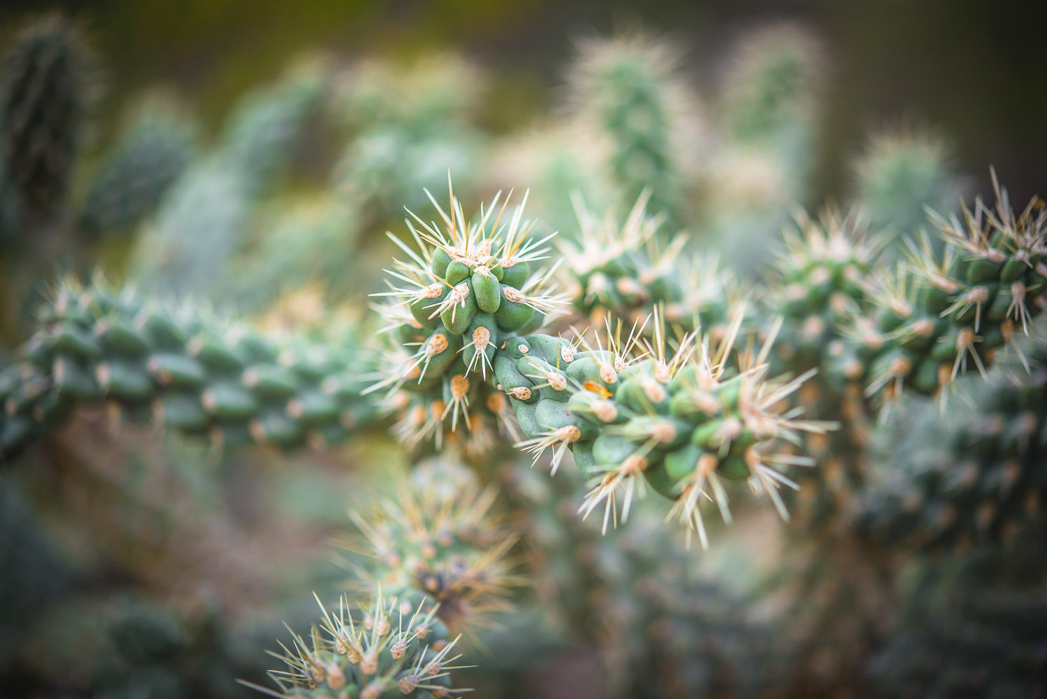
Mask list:
[{"label": "long, nearly horizontal knobbly green cactus arm reaching the left edge", "polygon": [[318,342],[285,347],[101,283],[66,284],[3,374],[0,452],[9,458],[72,408],[103,401],[223,444],[333,444],[374,419],[360,397],[358,354]]}]

